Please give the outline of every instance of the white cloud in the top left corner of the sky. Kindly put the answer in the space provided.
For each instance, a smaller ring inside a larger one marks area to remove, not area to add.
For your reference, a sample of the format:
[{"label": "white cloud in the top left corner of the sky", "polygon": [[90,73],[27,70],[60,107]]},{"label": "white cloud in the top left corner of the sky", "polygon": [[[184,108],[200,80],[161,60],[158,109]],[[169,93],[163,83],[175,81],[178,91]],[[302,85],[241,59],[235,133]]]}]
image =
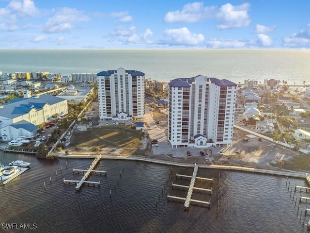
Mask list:
[{"label": "white cloud in the top left corner of the sky", "polygon": [[39,10],[32,0],[12,0],[6,7],[0,8],[0,30],[16,31],[23,19],[38,15]]}]

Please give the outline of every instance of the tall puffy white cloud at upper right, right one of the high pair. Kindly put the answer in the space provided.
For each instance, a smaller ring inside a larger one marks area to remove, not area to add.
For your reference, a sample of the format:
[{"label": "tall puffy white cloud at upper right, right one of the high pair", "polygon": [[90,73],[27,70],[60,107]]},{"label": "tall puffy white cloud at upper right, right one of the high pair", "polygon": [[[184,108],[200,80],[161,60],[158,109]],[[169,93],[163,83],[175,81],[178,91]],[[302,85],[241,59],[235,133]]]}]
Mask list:
[{"label": "tall puffy white cloud at upper right, right one of the high pair", "polygon": [[251,22],[248,16],[249,7],[249,3],[243,3],[239,6],[233,6],[230,3],[222,5],[216,14],[217,29],[248,27]]}]

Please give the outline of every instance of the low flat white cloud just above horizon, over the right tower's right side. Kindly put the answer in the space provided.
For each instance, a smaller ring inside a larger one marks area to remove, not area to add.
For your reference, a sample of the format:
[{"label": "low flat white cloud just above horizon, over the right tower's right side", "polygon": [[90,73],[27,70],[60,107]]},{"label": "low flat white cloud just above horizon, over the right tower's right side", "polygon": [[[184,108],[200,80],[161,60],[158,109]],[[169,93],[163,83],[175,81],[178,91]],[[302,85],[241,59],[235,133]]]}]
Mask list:
[{"label": "low flat white cloud just above horizon, over the right tower's right side", "polygon": [[255,48],[256,42],[253,40],[228,40],[228,39],[209,39],[206,46],[211,49],[247,49]]}]

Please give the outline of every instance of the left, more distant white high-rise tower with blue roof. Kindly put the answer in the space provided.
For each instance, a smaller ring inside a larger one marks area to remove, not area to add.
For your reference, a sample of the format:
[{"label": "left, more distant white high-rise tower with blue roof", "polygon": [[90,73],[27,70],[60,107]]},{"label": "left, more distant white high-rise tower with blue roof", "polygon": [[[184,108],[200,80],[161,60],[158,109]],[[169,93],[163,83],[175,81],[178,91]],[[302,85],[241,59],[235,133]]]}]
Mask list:
[{"label": "left, more distant white high-rise tower with blue roof", "polygon": [[144,73],[124,68],[101,71],[97,83],[101,121],[144,117]]}]

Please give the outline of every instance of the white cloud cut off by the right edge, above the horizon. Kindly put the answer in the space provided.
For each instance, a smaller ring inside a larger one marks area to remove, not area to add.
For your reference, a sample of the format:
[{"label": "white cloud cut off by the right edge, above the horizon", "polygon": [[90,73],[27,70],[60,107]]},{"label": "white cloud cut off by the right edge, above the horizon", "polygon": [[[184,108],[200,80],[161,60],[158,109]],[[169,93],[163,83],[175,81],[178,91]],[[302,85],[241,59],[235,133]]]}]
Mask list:
[{"label": "white cloud cut off by the right edge, above the horizon", "polygon": [[310,24],[307,24],[307,28],[299,33],[284,37],[282,46],[284,48],[310,48]]}]

